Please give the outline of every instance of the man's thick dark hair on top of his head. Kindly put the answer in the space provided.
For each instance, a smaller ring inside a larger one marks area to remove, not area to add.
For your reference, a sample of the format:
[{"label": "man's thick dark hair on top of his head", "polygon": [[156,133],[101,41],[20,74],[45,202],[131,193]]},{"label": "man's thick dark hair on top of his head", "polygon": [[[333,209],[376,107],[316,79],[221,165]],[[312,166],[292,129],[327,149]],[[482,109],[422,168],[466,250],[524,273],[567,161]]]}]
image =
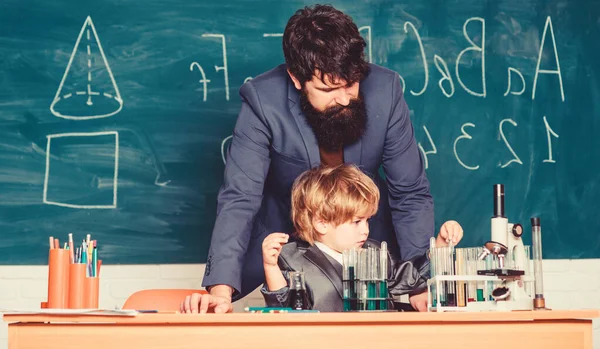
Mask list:
[{"label": "man's thick dark hair on top of his head", "polygon": [[362,80],[369,71],[365,45],[352,18],[329,5],[296,11],[283,33],[287,68],[303,86],[317,69],[322,81],[325,76],[349,84]]}]

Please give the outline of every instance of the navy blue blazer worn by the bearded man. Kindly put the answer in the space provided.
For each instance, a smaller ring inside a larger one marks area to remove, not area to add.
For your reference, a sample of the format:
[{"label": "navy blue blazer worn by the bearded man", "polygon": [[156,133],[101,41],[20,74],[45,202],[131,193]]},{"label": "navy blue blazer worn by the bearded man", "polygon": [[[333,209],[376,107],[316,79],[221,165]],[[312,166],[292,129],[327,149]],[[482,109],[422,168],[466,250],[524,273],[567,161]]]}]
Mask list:
[{"label": "navy blue blazer worn by the bearded man", "polygon": [[[344,162],[358,165],[381,191],[369,237],[409,259],[428,248],[434,216],[399,76],[371,64],[360,93],[367,127],[359,141],[344,147]],[[246,82],[240,96],[202,281],[204,287],[232,286],[234,300],[264,281],[262,242],[273,232],[292,233],[292,184],[320,165],[317,139],[285,65]]]}]

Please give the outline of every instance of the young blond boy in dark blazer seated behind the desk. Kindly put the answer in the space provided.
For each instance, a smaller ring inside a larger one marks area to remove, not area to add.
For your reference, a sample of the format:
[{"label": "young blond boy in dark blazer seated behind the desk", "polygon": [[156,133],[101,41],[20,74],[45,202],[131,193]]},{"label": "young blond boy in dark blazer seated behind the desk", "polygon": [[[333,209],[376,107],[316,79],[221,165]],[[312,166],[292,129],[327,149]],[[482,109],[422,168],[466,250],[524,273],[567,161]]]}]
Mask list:
[{"label": "young blond boy in dark blazer seated behind the desk", "polygon": [[[310,306],[322,312],[343,311],[342,251],[380,244],[368,239],[368,219],[377,211],[379,190],[353,165],[315,168],[300,175],[292,188],[292,221],[299,238],[273,233],[262,245],[267,306],[284,307],[289,294],[289,272],[303,271]],[[455,221],[444,223],[438,247],[462,239]],[[390,255],[388,284],[392,296],[409,294],[412,306],[427,310],[429,259],[423,254],[400,261]]]}]

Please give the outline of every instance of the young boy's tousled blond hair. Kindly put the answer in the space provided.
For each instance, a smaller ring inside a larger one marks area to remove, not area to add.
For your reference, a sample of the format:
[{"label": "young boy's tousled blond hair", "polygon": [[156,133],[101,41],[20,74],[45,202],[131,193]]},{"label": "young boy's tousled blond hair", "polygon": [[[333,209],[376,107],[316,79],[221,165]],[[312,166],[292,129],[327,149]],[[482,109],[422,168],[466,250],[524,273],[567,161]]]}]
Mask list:
[{"label": "young boy's tousled blond hair", "polygon": [[317,167],[302,173],[292,187],[292,222],[296,234],[313,244],[319,234],[314,219],[340,225],[377,212],[379,189],[355,165]]}]

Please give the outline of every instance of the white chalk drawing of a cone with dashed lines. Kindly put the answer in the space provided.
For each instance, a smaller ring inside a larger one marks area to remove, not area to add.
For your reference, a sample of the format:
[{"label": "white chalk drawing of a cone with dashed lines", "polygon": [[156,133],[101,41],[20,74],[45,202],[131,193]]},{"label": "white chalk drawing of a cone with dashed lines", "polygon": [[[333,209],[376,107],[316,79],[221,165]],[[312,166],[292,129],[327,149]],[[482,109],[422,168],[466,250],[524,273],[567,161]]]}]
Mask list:
[{"label": "white chalk drawing of a cone with dashed lines", "polygon": [[122,108],[119,88],[94,23],[88,16],[79,32],[50,111],[59,118],[89,120],[115,115]]}]

